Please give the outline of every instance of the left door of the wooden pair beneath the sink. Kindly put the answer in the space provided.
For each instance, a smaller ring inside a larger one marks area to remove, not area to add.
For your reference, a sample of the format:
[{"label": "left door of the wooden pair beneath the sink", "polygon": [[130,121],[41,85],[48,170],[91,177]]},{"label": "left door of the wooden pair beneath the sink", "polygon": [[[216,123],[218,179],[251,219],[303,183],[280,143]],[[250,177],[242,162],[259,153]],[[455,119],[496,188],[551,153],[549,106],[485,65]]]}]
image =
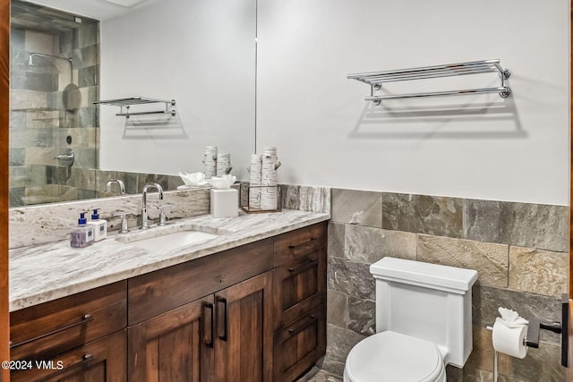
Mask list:
[{"label": "left door of the wooden pair beneath the sink", "polygon": [[129,327],[129,380],[212,381],[214,308],[210,295]]}]

